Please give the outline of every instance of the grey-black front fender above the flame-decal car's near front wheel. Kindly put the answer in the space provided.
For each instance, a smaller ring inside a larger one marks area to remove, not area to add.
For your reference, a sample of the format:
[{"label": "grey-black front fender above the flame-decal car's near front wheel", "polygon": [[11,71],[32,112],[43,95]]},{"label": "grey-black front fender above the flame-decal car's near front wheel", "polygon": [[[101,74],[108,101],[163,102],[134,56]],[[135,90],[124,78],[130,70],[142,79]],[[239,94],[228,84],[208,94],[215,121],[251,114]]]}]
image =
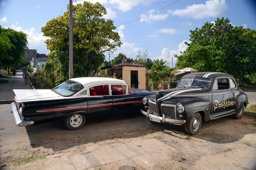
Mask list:
[{"label": "grey-black front fender above the flame-decal car's near front wheel", "polygon": [[211,115],[211,102],[205,99],[197,99],[197,98],[190,98],[185,99],[177,103],[177,105],[182,104],[184,106],[184,113],[183,116],[186,121],[190,121],[192,116],[198,112],[201,114],[202,119],[205,122],[209,121]]}]

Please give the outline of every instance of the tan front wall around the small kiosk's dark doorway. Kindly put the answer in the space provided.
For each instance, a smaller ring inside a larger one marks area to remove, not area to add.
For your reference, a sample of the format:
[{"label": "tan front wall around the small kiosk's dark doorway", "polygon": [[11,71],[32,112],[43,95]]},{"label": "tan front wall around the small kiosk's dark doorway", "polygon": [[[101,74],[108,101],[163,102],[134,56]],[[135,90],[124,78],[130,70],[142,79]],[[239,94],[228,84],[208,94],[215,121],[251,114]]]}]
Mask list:
[{"label": "tan front wall around the small kiosk's dark doorway", "polygon": [[122,67],[122,79],[131,87],[131,71],[138,71],[139,88],[146,89],[145,67]]}]

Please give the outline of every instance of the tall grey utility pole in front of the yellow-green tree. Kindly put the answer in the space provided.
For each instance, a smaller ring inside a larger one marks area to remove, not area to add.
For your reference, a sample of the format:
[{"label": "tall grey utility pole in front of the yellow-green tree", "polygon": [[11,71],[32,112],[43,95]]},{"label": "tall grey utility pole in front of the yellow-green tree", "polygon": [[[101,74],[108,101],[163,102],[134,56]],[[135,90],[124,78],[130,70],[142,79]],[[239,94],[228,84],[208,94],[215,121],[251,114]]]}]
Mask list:
[{"label": "tall grey utility pole in front of the yellow-green tree", "polygon": [[69,79],[74,78],[73,73],[73,5],[70,0],[70,30],[69,30]]}]

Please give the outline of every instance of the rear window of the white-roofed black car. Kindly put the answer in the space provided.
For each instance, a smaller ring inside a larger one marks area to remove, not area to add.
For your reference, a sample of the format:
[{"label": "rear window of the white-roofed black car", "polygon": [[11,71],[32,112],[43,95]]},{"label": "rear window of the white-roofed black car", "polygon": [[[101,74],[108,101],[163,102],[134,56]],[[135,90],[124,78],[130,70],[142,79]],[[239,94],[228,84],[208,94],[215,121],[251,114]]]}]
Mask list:
[{"label": "rear window of the white-roofed black car", "polygon": [[66,82],[63,82],[57,87],[53,88],[52,91],[61,96],[71,96],[80,91],[82,88],[84,87],[79,82],[67,80]]}]

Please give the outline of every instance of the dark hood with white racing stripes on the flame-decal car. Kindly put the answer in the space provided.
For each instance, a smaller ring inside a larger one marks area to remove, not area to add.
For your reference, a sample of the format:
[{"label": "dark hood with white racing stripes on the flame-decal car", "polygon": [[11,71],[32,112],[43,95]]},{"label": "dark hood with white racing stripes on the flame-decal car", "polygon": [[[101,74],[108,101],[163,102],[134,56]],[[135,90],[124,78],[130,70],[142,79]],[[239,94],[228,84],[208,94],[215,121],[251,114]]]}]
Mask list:
[{"label": "dark hood with white racing stripes on the flame-decal car", "polygon": [[207,95],[208,89],[204,88],[172,88],[169,90],[157,92],[156,99],[157,101],[166,100],[173,97],[185,97],[185,96],[198,96],[198,95]]}]

